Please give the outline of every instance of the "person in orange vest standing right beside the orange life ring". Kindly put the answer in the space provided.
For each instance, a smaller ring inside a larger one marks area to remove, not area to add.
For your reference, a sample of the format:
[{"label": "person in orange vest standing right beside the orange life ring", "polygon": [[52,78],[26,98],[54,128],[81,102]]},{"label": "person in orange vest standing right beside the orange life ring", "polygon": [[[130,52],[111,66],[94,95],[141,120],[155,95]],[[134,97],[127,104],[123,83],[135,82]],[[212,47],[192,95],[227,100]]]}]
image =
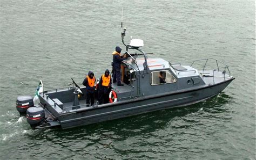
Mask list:
[{"label": "person in orange vest standing right beside the orange life ring", "polygon": [[109,103],[109,93],[111,90],[111,76],[106,69],[105,74],[99,79],[99,104]]}]

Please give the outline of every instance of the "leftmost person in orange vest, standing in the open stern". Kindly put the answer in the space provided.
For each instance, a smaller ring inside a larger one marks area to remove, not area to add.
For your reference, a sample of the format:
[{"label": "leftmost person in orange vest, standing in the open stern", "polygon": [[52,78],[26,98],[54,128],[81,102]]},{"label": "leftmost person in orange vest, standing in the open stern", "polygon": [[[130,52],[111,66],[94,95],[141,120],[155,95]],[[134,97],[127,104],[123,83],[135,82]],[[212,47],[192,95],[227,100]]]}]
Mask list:
[{"label": "leftmost person in orange vest, standing in the open stern", "polygon": [[88,75],[86,76],[83,82],[83,85],[86,86],[86,107],[89,107],[90,101],[91,101],[91,106],[94,104],[95,81],[96,81],[96,78],[93,72],[89,71]]}]

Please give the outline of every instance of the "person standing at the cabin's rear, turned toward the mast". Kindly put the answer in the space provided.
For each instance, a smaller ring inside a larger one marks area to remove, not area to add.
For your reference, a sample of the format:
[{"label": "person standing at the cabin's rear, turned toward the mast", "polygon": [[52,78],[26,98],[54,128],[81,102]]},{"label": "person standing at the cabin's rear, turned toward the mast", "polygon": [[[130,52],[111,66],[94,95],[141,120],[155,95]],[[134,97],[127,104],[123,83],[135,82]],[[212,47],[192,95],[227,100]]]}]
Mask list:
[{"label": "person standing at the cabin's rear, turned toward the mast", "polygon": [[121,62],[126,59],[126,55],[124,55],[124,57],[120,56],[121,50],[122,49],[117,46],[116,51],[114,51],[112,53],[112,55],[113,55],[113,69],[114,69],[113,83],[117,82],[118,86],[123,86],[123,84],[121,83],[120,69],[121,69]]}]

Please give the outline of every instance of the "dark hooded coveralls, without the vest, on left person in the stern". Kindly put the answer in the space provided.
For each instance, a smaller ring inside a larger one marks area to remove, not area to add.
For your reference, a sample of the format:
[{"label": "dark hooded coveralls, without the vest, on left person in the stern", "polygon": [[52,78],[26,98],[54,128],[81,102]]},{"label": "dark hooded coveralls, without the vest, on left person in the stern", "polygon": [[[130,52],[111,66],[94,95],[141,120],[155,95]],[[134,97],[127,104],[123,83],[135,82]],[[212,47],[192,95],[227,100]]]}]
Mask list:
[{"label": "dark hooded coveralls, without the vest, on left person in the stern", "polygon": [[[95,78],[94,76],[91,76],[92,74],[93,74],[92,71],[88,72],[88,76],[91,79]],[[96,81],[96,78],[95,78],[95,81]],[[95,86],[94,85],[93,87],[89,86],[87,77],[84,79],[83,85],[86,86],[86,106],[89,107],[90,101],[91,101],[91,105],[94,104]]]}]

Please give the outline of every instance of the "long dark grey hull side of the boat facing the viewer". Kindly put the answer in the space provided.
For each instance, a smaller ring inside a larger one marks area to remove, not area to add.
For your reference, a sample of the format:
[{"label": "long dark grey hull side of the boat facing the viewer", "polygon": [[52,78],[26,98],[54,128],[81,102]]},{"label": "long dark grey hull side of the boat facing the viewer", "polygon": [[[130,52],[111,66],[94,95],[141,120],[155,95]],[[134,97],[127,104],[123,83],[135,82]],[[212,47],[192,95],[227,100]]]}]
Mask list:
[{"label": "long dark grey hull side of the boat facing the viewer", "polygon": [[118,103],[99,105],[94,108],[90,107],[86,108],[86,110],[64,113],[60,114],[58,120],[62,129],[66,129],[166,108],[190,105],[220,93],[233,79],[231,78],[213,85],[205,85],[201,88],[160,93]]}]

